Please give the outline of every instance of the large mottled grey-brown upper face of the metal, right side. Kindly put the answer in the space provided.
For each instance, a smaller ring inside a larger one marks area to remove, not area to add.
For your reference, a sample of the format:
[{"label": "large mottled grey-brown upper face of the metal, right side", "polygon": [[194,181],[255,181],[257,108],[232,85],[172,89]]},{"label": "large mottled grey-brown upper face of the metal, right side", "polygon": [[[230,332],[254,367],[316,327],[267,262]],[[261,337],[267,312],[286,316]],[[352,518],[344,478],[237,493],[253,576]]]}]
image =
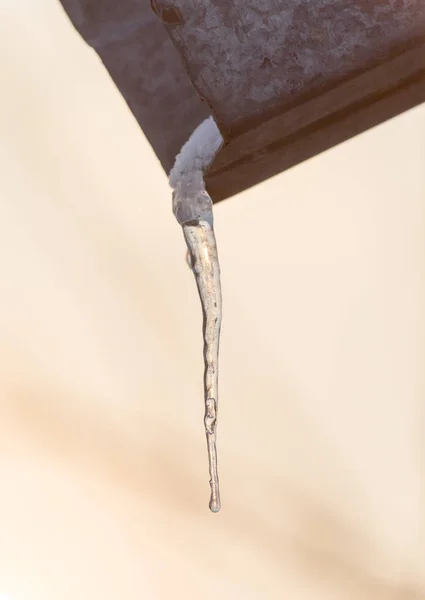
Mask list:
[{"label": "large mottled grey-brown upper face of the metal, right side", "polygon": [[408,49],[423,0],[152,0],[222,133]]}]

